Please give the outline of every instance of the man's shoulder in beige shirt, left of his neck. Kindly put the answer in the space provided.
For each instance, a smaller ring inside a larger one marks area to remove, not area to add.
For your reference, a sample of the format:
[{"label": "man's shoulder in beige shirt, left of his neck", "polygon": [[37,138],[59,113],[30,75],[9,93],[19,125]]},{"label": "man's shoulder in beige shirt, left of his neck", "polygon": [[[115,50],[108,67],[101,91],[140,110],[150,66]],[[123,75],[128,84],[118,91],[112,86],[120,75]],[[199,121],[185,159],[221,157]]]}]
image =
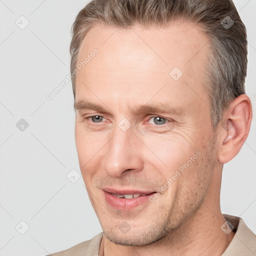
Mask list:
[{"label": "man's shoulder in beige shirt, left of his neck", "polygon": [[102,235],[103,232],[97,234],[90,240],[78,243],[69,249],[51,253],[47,256],[96,256],[98,255]]}]

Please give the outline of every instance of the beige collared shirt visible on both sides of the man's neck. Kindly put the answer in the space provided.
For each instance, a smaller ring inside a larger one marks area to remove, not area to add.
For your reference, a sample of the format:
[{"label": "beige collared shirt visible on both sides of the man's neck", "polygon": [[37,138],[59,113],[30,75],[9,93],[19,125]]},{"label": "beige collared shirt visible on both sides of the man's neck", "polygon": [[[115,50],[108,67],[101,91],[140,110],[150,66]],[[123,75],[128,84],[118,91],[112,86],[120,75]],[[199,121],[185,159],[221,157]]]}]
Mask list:
[{"label": "beige collared shirt visible on both sides of the man's neck", "polygon": [[[239,217],[223,214],[233,226],[235,235],[221,256],[255,256],[256,235]],[[98,256],[103,232],[92,239],[81,242],[67,250],[50,254],[51,256]],[[49,256],[49,255],[48,255]]]}]

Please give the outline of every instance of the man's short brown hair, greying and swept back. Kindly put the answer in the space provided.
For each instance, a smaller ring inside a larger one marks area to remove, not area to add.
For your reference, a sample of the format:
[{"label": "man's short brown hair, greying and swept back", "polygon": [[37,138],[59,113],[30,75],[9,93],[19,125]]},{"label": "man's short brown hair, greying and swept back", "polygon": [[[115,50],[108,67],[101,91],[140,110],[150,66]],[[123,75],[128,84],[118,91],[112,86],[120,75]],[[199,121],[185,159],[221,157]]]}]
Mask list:
[{"label": "man's short brown hair, greying and swept back", "polygon": [[[175,19],[197,23],[208,35],[210,54],[205,88],[212,125],[216,127],[229,103],[245,93],[246,29],[232,0],[92,0],[79,11],[72,25],[71,73],[84,36],[94,25],[130,29],[139,24],[150,28]],[[72,88],[75,98],[75,76]]]}]

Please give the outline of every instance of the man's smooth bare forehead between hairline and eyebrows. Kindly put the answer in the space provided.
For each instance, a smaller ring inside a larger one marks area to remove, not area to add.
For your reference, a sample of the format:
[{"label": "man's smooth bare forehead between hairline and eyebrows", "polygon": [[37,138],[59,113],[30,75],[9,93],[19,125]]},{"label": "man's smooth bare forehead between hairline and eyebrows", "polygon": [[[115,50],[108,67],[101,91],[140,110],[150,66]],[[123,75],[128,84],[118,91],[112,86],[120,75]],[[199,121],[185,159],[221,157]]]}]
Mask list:
[{"label": "man's smooth bare forehead between hairline and eyebrows", "polygon": [[[196,96],[190,87],[197,97],[201,94],[199,97],[205,98],[202,93],[208,42],[198,25],[184,21],[148,29],[95,25],[78,54],[77,63],[86,57],[89,60],[76,75],[76,98],[86,93],[143,101],[166,83],[162,95],[187,101]],[[91,54],[95,48],[98,53]]]}]

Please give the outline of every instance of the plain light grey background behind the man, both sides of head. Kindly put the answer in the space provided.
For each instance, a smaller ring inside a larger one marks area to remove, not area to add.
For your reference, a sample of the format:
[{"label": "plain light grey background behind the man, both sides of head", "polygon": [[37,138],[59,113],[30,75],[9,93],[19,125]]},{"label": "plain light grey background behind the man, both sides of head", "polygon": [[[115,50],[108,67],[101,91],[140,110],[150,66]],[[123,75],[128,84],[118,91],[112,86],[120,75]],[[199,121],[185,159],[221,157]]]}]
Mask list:
[{"label": "plain light grey background behind the man, both sides of head", "polygon": [[[79,172],[71,82],[46,98],[69,74],[70,27],[85,3],[0,0],[0,255],[45,255],[101,231],[82,178],[66,177]],[[235,4],[248,32],[246,92],[255,112],[256,1]],[[15,24],[21,15],[29,21],[24,29]],[[16,127],[21,118],[29,124],[24,131]],[[221,188],[222,212],[254,232],[255,128],[254,116],[243,148],[224,166]],[[29,226],[24,234],[21,220]]]}]

